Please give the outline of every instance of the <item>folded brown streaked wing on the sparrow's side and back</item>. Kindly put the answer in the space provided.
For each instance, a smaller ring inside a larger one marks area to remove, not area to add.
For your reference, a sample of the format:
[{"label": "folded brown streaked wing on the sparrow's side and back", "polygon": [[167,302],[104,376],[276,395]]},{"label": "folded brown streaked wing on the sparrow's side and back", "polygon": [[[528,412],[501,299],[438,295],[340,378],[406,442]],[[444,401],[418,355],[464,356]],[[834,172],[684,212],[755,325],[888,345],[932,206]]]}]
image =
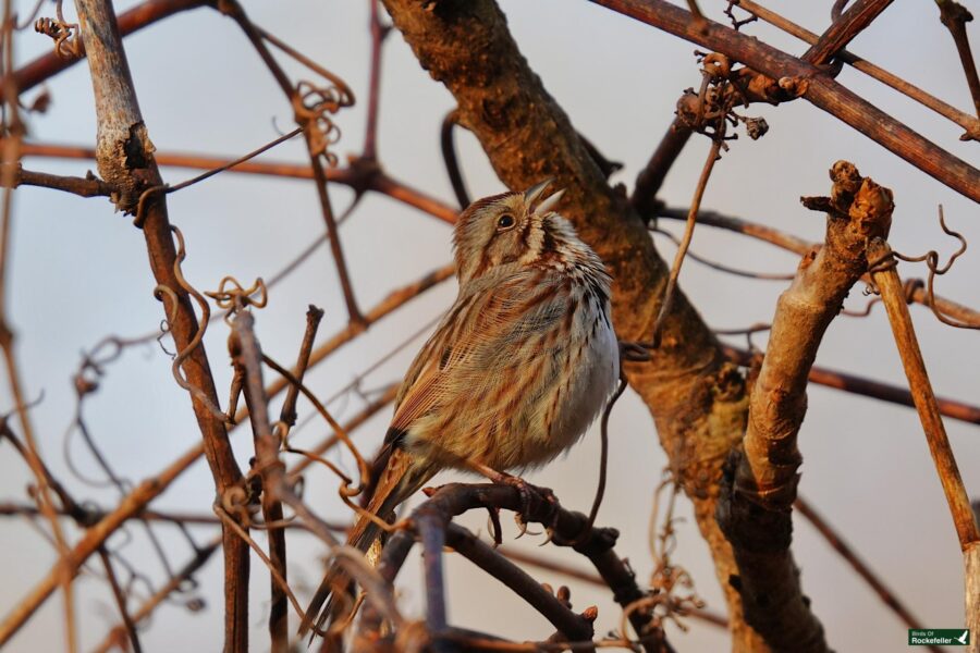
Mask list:
[{"label": "folded brown streaked wing on the sparrow's side and back", "polygon": [[566,278],[529,270],[470,285],[409,368],[392,429],[408,431],[461,395],[485,397],[516,382],[515,372],[526,373],[535,358],[566,346],[562,326],[571,330],[575,311]]}]

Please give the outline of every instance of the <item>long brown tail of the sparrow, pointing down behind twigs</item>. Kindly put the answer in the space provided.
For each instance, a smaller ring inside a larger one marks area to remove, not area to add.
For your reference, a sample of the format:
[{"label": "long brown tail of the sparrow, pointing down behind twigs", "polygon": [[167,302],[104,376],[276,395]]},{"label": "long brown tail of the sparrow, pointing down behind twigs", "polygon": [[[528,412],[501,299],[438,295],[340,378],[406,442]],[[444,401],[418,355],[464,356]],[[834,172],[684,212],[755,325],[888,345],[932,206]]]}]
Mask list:
[{"label": "long brown tail of the sparrow, pointing down behind twigs", "polygon": [[[382,471],[378,476],[375,493],[366,510],[376,517],[388,519],[400,503],[428,481],[431,473],[419,473],[421,470],[412,465],[412,456],[402,448],[391,447],[382,452],[379,461],[383,463]],[[366,553],[381,537],[381,530],[376,520],[360,514],[347,533],[347,545]],[[301,638],[306,636],[313,624],[322,629],[323,625],[331,620],[333,613],[339,612],[335,604],[338,592],[350,592],[352,582],[340,564],[334,562],[330,565],[309,607],[306,608],[306,618],[299,627]]]}]

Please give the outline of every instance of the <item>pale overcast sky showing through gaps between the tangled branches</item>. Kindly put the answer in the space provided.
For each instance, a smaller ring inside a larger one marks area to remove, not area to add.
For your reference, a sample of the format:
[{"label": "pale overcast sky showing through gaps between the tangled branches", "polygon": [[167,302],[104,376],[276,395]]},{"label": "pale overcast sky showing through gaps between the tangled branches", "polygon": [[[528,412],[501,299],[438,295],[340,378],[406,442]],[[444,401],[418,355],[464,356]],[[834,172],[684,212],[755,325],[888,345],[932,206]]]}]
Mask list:
[{"label": "pale overcast sky showing through gaps between the tangled branches", "polygon": [[[15,2],[22,13],[33,4]],[[133,4],[115,3],[119,12]],[[702,9],[710,17],[722,20],[724,4],[706,0]],[[788,0],[768,3],[818,33],[830,22],[830,4]],[[367,2],[249,0],[244,5],[257,24],[285,38],[352,86],[359,102],[338,116],[343,138],[335,150],[342,160],[346,153],[359,151],[367,97]],[[501,0],[501,5],[522,51],[548,90],[581,133],[609,158],[625,164],[613,181],[632,189],[637,172],[671,122],[678,95],[699,83],[695,46],[585,1]],[[68,7],[65,11],[74,15]],[[46,4],[46,14],[52,13],[51,5]],[[749,25],[745,30],[789,52],[801,53],[806,49],[761,24]],[[971,34],[976,35],[976,29]],[[144,118],[158,150],[233,158],[271,140],[278,135],[277,130],[290,128],[290,108],[271,76],[235,25],[218,12],[200,9],[176,15],[127,38],[125,45]],[[50,47],[45,37],[25,30],[16,41],[17,61],[26,62]],[[964,110],[971,106],[952,39],[932,3],[895,3],[854,41],[850,50]],[[295,75],[308,77],[285,58],[282,62]],[[959,143],[957,127],[860,73],[845,70],[840,79],[942,147],[977,163],[977,145]],[[53,103],[48,114],[29,118],[30,139],[93,145],[95,113],[87,67],[76,65],[58,75],[49,82],[48,89]],[[439,155],[438,132],[442,116],[452,107],[449,93],[419,69],[401,36],[393,33],[384,50],[380,158],[393,176],[448,202],[452,202],[452,193]],[[805,101],[779,108],[754,106],[747,113],[764,116],[771,131],[759,141],[743,136],[733,144],[715,167],[702,205],[706,209],[820,239],[823,219],[804,210],[798,197],[825,194],[830,184],[828,169],[834,161],[847,159],[863,174],[894,189],[892,243],[896,249],[921,254],[938,248],[944,256],[955,250],[956,243],[940,232],[939,204],[944,205],[952,227],[975,241],[980,237],[972,202]],[[475,139],[461,134],[458,141],[473,196],[501,192],[503,187]],[[661,194],[671,206],[689,201],[707,148],[706,139],[694,138],[672,170]],[[298,140],[285,144],[265,159],[302,162],[303,146]],[[61,174],[84,174],[94,168],[81,161],[40,159],[27,160],[25,165]],[[170,183],[196,174],[177,169],[163,172]],[[330,190],[340,212],[352,194],[340,186],[331,186]],[[188,244],[185,275],[200,289],[217,288],[225,274],[243,282],[256,276],[268,279],[323,229],[316,192],[309,182],[221,174],[171,195],[168,201],[171,220],[183,230]],[[666,226],[679,231],[678,225]],[[368,196],[342,229],[362,308],[373,306],[392,288],[448,262],[450,235],[444,223],[385,197]],[[142,335],[160,322],[143,236],[130,218],[113,213],[105,199],[23,188],[14,198],[12,237],[9,313],[19,336],[17,357],[27,395],[36,397],[44,392],[42,403],[32,410],[40,446],[53,472],[76,497],[111,508],[118,494],[111,489],[87,486],[74,477],[62,448],[74,412],[71,377],[81,352],[90,349],[108,334]],[[673,257],[669,242],[658,239],[658,244],[664,257]],[[792,272],[796,264],[794,256],[710,227],[698,229],[693,250],[757,271]],[[978,261],[976,251],[968,252],[952,274],[938,282],[940,292],[968,305],[980,304]],[[901,271],[904,275],[923,275],[921,267],[909,269],[903,264]],[[710,325],[731,329],[770,321],[775,298],[786,283],[736,279],[688,261],[682,285]],[[320,396],[330,396],[440,315],[454,295],[455,282],[448,282],[377,324],[313,370],[308,375],[311,386]],[[847,301],[852,308],[860,308],[867,301],[860,292],[852,295]],[[327,310],[319,337],[323,342],[343,328],[345,315],[326,246],[277,286],[268,308],[256,313],[259,337],[274,358],[294,360],[305,308],[310,303]],[[980,348],[976,346],[976,333],[943,326],[920,306],[911,310],[936,393],[976,404],[980,401]],[[225,326],[218,322],[206,337],[222,402],[231,378],[226,335]],[[379,387],[400,380],[421,341],[418,338],[382,365],[364,386]],[[732,342],[743,344],[744,338]],[[755,342],[764,345],[764,336]],[[836,320],[820,349],[818,364],[904,383],[880,306],[863,320]],[[87,422],[115,469],[135,483],[159,472],[192,446],[199,433],[187,397],[170,374],[170,360],[156,345],[127,350],[107,372],[99,393],[85,405]],[[13,399],[5,385],[2,392],[0,409],[8,410]],[[351,398],[333,408],[343,418],[360,406],[359,399]],[[278,403],[274,409],[278,410]],[[309,406],[302,404],[301,416],[308,412]],[[384,410],[357,432],[364,451],[373,451],[389,418],[390,410]],[[952,420],[946,426],[967,488],[977,496],[980,433]],[[652,565],[647,540],[650,497],[661,480],[666,458],[649,414],[632,393],[617,405],[610,430],[611,478],[599,522],[620,529],[616,551],[629,558],[645,581]],[[313,422],[296,431],[295,444],[313,444],[326,432],[320,423]],[[566,507],[587,509],[598,475],[597,435],[593,429],[567,457],[531,475],[529,480],[553,488]],[[245,467],[250,438],[244,430],[236,431],[233,438]],[[813,387],[800,448],[805,457],[801,495],[846,535],[871,568],[920,616],[922,626],[960,626],[959,549],[915,412]],[[69,440],[68,449],[77,468],[99,478],[77,433]],[[350,467],[350,457],[338,456]],[[30,477],[8,445],[0,445],[0,472],[2,501],[24,501]],[[332,478],[317,471],[307,484],[306,496],[322,514],[340,516],[333,486]],[[210,473],[204,463],[198,463],[154,506],[208,514],[212,500]],[[677,513],[686,520],[677,526],[672,559],[690,571],[708,606],[723,611],[713,566],[686,500],[678,502]],[[483,515],[469,516],[465,521],[486,533]],[[507,546],[586,568],[574,553],[553,546],[535,549],[540,537],[512,543],[515,530],[507,519],[504,521]],[[809,523],[797,516],[795,525],[794,553],[803,570],[804,588],[826,628],[831,645],[842,652],[904,650],[905,626]],[[78,537],[72,528],[68,531],[73,539]],[[142,572],[160,582],[163,571],[150,554],[144,533],[135,526],[127,531],[132,541],[127,543],[125,537],[115,535],[110,546],[121,549]],[[183,565],[191,556],[186,541],[172,528],[161,526],[157,532],[166,543],[171,564]],[[197,542],[204,543],[217,529],[197,527],[192,532]],[[10,518],[0,522],[0,550],[7,559],[0,611],[7,614],[44,577],[54,555],[34,528]],[[322,554],[322,547],[309,537],[298,534],[290,541],[290,577],[295,587],[304,589],[304,601],[319,581]],[[551,633],[543,618],[495,581],[474,572],[453,555],[446,559],[452,624],[522,641],[540,640]],[[97,571],[98,565],[90,568]],[[553,586],[568,582],[558,575],[531,572]],[[400,577],[404,612],[412,617],[422,614],[415,584],[418,574],[417,562],[409,562]],[[212,558],[197,578],[200,587],[191,595],[203,597],[206,609],[193,615],[179,604],[158,609],[143,632],[146,650],[220,649],[220,558]],[[253,578],[253,650],[262,651],[268,649],[268,576],[257,558]],[[581,583],[569,584],[576,609],[592,604],[600,607],[597,634],[618,626],[620,611],[608,592]],[[82,650],[87,650],[117,623],[118,614],[101,580],[87,575],[76,587],[79,640]],[[688,625],[687,633],[675,628],[670,631],[678,651],[720,651],[727,646],[724,630],[696,620]],[[9,645],[12,652],[62,648],[60,596],[52,596]]]}]

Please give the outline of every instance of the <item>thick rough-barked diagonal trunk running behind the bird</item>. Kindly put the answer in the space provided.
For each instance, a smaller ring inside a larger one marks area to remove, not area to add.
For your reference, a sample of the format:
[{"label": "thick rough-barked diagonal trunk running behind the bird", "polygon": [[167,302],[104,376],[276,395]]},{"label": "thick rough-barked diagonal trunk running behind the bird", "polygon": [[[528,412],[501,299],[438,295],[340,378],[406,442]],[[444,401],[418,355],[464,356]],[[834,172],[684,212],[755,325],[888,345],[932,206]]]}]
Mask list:
[{"label": "thick rough-barked diagonal trunk running behind the bird", "polygon": [[[488,0],[384,0],[419,63],[458,103],[462,125],[511,188],[554,176],[566,187],[559,210],[612,272],[613,315],[621,340],[649,340],[667,278],[644,222],[610,188],[568,116],[548,95]],[[683,294],[674,300],[652,360],[626,366],[629,383],[657,422],[677,481],[693,500],[698,526],[725,588],[736,650],[764,650],[742,619],[732,551],[714,520],[719,480],[745,428],[744,381],[725,362],[714,335]]]}]

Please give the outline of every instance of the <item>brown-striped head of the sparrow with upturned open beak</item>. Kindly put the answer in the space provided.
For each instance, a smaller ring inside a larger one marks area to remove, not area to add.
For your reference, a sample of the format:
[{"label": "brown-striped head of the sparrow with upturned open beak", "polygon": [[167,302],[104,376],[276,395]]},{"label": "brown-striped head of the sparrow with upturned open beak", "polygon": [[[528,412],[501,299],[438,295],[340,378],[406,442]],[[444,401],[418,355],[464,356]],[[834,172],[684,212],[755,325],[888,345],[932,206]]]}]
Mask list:
[{"label": "brown-striped head of the sparrow with upturned open beak", "polygon": [[574,237],[571,224],[551,210],[564,194],[546,195],[551,182],[485,197],[463,211],[453,237],[461,285],[500,266],[532,263],[554,247],[556,233]]}]

